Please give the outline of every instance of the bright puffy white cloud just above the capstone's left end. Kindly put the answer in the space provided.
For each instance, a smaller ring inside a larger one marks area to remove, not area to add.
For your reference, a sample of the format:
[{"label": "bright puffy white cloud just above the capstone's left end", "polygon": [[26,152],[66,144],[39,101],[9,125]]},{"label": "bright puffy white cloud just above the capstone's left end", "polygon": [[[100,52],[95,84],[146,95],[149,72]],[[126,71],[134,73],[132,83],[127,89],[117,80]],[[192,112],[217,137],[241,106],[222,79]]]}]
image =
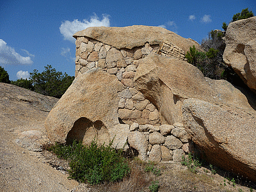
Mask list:
[{"label": "bright puffy white cloud just above the capstone's left end", "polygon": [[76,42],[76,39],[72,36],[77,31],[81,31],[90,27],[100,27],[105,26],[109,27],[109,16],[102,15],[103,19],[100,20],[99,17],[94,14],[90,21],[84,19],[83,21],[79,21],[78,19],[74,19],[72,22],[69,20],[65,20],[62,22],[60,26],[60,33],[64,36],[64,40],[69,40],[70,42]]}]

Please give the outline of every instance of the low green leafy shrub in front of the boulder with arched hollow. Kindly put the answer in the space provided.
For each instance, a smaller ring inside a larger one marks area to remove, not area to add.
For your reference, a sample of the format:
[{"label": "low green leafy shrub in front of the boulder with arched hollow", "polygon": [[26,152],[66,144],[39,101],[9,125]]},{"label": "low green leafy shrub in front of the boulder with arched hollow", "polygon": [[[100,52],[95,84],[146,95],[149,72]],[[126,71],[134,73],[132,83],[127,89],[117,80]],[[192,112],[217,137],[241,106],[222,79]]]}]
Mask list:
[{"label": "low green leafy shrub in front of the boulder with arched hollow", "polygon": [[130,173],[129,164],[122,156],[121,150],[98,145],[92,141],[90,145],[74,141],[72,145],[54,145],[49,148],[58,157],[67,159],[71,179],[90,184],[116,182],[124,179]]}]

